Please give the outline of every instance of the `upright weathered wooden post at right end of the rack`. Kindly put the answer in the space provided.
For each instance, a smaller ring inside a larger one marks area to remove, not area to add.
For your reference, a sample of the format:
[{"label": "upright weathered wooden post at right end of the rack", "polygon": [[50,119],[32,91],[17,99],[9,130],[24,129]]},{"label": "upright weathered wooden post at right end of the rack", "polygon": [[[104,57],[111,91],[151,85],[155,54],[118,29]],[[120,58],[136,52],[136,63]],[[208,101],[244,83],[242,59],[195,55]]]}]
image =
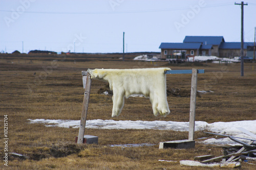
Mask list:
[{"label": "upright weathered wooden post at right end of the rack", "polygon": [[197,69],[192,69],[188,140],[194,140],[197,98]]}]

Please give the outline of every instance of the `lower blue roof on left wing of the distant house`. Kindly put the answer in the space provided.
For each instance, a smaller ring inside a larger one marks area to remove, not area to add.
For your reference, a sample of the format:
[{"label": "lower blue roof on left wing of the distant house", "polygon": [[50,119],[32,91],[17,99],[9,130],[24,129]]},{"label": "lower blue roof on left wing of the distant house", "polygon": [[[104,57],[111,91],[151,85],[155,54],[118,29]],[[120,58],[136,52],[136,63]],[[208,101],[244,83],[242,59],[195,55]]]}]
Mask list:
[{"label": "lower blue roof on left wing of the distant house", "polygon": [[199,49],[201,47],[201,43],[169,43],[162,42],[159,48],[164,49],[177,49],[177,50],[185,50],[185,49]]}]

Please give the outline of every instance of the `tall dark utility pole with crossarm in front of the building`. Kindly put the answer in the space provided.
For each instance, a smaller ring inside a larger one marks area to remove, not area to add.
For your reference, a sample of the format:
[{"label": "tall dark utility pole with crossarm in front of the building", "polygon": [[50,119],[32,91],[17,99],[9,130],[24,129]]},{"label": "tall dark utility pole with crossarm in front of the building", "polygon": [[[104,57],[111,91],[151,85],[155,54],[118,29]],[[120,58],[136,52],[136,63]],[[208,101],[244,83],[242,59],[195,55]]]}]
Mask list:
[{"label": "tall dark utility pole with crossarm in front of the building", "polygon": [[244,76],[244,4],[242,1],[241,4],[234,3],[234,5],[241,5],[241,76]]}]

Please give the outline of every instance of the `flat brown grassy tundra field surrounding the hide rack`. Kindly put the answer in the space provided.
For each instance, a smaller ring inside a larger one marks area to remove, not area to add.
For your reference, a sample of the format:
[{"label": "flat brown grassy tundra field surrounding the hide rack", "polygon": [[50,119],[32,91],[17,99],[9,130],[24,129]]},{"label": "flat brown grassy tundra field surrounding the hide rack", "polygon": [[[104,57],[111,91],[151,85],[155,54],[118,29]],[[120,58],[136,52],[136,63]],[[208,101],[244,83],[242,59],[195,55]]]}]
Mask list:
[{"label": "flat brown grassy tundra field surrounding the hide rack", "polygon": [[[160,150],[159,142],[187,139],[188,132],[86,129],[86,135],[98,136],[98,144],[76,144],[77,128],[29,123],[28,119],[80,120],[84,92],[81,71],[88,68],[205,69],[205,74],[198,74],[197,90],[213,92],[198,93],[196,121],[256,120],[255,63],[244,63],[244,77],[241,77],[240,63],[169,64],[134,61],[136,56],[127,54],[125,61],[122,61],[119,59],[122,54],[1,54],[1,169],[207,169],[181,166],[179,161],[194,160],[195,156],[223,155],[222,148],[198,142],[205,140],[200,139],[202,137],[215,137],[203,133],[211,131],[207,127],[195,132],[196,146],[193,149]],[[154,116],[150,100],[146,98],[125,99],[121,114],[111,117],[112,96],[99,94],[99,89],[106,85],[105,82],[92,80],[88,120],[189,121],[190,74],[166,75],[170,109],[166,117]],[[4,127],[8,130],[5,131]],[[137,148],[111,146],[139,143],[155,145]],[[6,153],[8,159],[5,159]],[[251,163],[242,162],[239,169],[255,169],[255,161]]]}]

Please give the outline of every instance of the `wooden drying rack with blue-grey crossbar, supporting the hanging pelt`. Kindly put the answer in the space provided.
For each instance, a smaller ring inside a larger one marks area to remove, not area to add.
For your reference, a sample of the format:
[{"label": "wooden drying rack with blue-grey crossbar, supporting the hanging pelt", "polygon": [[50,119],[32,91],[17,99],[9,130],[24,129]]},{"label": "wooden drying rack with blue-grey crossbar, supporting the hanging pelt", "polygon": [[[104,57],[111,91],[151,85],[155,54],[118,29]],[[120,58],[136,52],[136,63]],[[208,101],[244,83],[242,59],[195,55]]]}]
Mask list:
[{"label": "wooden drying rack with blue-grey crossbar, supporting the hanging pelt", "polygon": [[[188,70],[168,70],[165,74],[192,74],[191,79],[191,94],[190,94],[190,111],[189,111],[189,130],[188,140],[194,140],[195,132],[195,114],[196,114],[196,96],[197,96],[197,74],[203,74],[204,69],[188,69]],[[86,127],[86,117],[89,105],[90,90],[91,90],[91,75],[87,71],[82,71],[82,82],[84,88],[82,114],[79,126],[77,143],[82,143],[84,131]]]}]

